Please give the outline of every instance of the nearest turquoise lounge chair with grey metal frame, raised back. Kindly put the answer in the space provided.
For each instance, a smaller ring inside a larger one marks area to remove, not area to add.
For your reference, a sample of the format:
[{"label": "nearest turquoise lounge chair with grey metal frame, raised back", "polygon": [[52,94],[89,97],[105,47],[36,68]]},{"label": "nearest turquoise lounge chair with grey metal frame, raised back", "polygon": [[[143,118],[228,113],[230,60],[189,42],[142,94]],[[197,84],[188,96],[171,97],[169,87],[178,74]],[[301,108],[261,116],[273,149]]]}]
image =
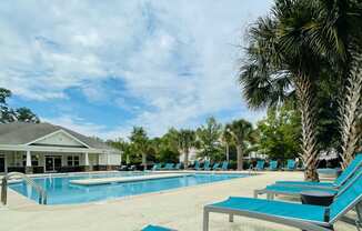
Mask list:
[{"label": "nearest turquoise lounge chair with grey metal frame, raised back", "polygon": [[345,190],[334,199],[330,207],[234,197],[205,205],[203,209],[203,231],[209,230],[210,212],[229,214],[230,222],[233,221],[233,215],[242,215],[309,231],[330,231],[333,224],[353,208],[358,212],[355,223],[361,227],[361,174],[349,182]]}]

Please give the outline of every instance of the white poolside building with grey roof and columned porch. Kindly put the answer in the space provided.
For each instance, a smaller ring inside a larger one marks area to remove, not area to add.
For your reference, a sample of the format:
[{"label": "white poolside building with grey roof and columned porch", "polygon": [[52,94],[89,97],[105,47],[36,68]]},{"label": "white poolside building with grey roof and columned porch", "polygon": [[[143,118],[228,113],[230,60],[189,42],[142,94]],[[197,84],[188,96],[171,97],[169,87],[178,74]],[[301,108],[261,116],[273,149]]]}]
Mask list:
[{"label": "white poolside building with grey roof and columned porch", "polygon": [[0,124],[0,173],[112,170],[120,162],[119,150],[59,125]]}]

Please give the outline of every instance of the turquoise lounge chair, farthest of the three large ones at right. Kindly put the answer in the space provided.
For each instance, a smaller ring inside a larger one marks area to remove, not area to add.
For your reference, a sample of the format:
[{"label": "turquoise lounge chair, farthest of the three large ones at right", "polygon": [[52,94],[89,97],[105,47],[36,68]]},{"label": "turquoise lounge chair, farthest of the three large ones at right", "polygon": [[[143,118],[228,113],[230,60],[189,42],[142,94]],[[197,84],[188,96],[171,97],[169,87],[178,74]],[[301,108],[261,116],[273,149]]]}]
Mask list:
[{"label": "turquoise lounge chair, farthest of the three large ones at right", "polygon": [[362,167],[362,153],[358,154],[354,160],[344,169],[339,178],[333,183],[329,182],[309,182],[309,181],[276,181],[278,184],[289,185],[306,185],[321,188],[340,188],[355,171]]}]

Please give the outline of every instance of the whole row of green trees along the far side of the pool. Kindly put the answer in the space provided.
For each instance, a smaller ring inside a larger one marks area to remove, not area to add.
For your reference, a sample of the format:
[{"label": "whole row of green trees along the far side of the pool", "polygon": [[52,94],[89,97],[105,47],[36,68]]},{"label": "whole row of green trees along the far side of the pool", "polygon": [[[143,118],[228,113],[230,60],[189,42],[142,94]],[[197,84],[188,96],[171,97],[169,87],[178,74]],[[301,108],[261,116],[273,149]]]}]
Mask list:
[{"label": "whole row of green trees along the far side of the pool", "polygon": [[[274,160],[294,159],[300,151],[300,117],[294,110],[283,109],[275,114],[270,110],[257,127],[244,120],[222,124],[215,118],[208,118],[197,129],[169,129],[163,135],[150,138],[144,128],[133,127],[128,139],[107,142],[123,152],[125,164],[141,164],[147,168],[154,162],[181,162],[189,167],[190,152],[199,159],[212,162],[229,161],[238,170],[249,168],[244,159],[250,153],[264,154]],[[274,131],[278,130],[278,133]]]}]

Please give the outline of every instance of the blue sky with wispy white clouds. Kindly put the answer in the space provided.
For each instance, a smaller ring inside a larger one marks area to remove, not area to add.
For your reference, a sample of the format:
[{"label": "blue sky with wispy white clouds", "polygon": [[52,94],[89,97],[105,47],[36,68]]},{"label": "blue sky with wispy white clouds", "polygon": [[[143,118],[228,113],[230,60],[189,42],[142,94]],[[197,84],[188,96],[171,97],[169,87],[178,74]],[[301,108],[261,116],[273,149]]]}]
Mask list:
[{"label": "blue sky with wispy white clouds", "polygon": [[238,84],[248,27],[272,0],[2,0],[0,87],[11,107],[102,139],[264,111]]}]

